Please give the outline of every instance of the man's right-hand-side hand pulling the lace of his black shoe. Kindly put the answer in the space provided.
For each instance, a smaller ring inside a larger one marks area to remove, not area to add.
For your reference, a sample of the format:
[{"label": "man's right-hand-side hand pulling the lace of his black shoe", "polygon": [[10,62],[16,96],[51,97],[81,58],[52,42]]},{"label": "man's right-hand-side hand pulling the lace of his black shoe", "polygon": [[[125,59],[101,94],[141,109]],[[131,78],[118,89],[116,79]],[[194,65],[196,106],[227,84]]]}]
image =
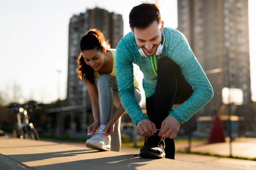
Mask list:
[{"label": "man's right-hand-side hand pulling the lace of his black shoe", "polygon": [[158,136],[164,138],[175,138],[180,128],[180,123],[175,119],[175,117],[169,115],[162,122],[160,132]]}]

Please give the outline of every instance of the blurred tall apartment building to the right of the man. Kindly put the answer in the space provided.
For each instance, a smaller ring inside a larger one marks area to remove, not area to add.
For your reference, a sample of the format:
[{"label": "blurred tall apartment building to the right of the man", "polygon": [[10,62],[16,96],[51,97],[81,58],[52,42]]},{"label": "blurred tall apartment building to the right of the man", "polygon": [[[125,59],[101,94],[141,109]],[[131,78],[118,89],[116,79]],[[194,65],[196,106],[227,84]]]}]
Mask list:
[{"label": "blurred tall apartment building to the right of the man", "polygon": [[221,108],[222,89],[230,81],[231,88],[243,91],[243,105],[236,115],[251,119],[248,0],[178,0],[177,4],[178,30],[189,41],[214,91],[201,115]]}]

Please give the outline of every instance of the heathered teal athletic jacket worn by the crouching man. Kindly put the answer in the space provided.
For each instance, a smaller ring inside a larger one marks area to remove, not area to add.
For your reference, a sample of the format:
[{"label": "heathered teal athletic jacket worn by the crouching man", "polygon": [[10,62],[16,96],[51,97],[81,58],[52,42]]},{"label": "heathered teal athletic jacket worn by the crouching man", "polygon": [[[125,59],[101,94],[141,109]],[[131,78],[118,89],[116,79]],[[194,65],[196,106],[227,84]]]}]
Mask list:
[{"label": "heathered teal athletic jacket worn by the crouching man", "polygon": [[[135,42],[132,32],[123,37],[116,47],[116,79],[119,88],[119,97],[132,122],[137,125],[142,119],[148,117],[141,111],[134,96],[133,63],[140,67],[144,74],[143,89],[146,98],[154,94],[157,76],[154,65],[161,57],[171,58],[179,67],[186,81],[192,86],[194,93],[180,107],[173,108],[169,115],[172,115],[178,122],[188,121],[204,105],[212,99],[212,85],[207,79],[201,65],[195,58],[186,37],[173,28],[164,28],[165,49],[163,54],[157,56],[153,62],[152,57],[142,57],[138,51],[139,47]],[[168,79],[168,77],[166,77]]]}]

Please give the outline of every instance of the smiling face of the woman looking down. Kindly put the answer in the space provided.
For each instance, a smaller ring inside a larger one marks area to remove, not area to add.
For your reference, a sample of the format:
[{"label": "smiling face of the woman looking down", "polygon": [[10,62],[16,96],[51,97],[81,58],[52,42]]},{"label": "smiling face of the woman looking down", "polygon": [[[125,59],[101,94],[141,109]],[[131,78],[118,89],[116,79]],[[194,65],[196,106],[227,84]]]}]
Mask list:
[{"label": "smiling face of the woman looking down", "polygon": [[82,51],[84,61],[90,65],[95,71],[99,71],[104,64],[105,55],[96,49]]}]

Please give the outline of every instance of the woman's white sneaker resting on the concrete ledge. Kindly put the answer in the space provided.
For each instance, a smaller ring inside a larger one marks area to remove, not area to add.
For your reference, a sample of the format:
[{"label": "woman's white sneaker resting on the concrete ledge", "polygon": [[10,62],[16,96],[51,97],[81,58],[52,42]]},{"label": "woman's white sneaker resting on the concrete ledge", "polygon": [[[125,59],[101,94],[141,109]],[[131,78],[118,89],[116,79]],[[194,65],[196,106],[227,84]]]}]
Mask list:
[{"label": "woman's white sneaker resting on the concrete ledge", "polygon": [[[103,132],[104,126],[100,126],[97,132]],[[104,133],[97,133],[90,139],[88,139],[85,145],[95,150],[110,150],[111,147],[111,136],[104,135]]]}]

